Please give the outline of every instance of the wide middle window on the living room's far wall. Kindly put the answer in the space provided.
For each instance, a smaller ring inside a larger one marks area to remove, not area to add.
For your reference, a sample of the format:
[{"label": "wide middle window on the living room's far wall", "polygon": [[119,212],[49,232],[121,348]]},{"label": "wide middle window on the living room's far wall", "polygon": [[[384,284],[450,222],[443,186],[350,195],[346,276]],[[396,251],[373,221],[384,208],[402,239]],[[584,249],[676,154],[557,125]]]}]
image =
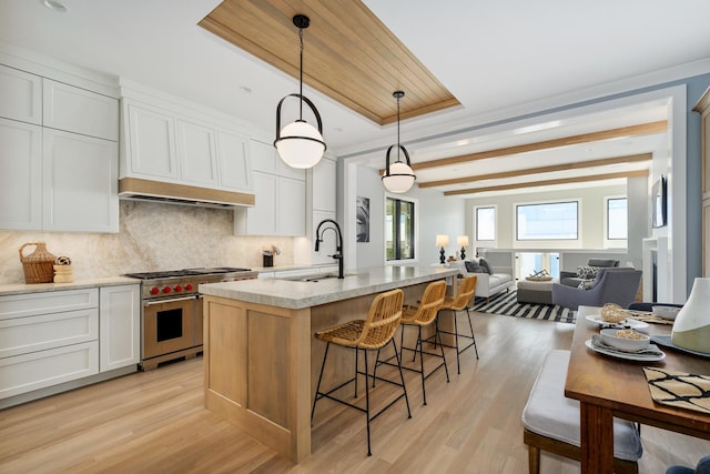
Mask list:
[{"label": "wide middle window on the living room's far wall", "polygon": [[517,240],[574,240],[578,236],[577,201],[516,205]]}]

